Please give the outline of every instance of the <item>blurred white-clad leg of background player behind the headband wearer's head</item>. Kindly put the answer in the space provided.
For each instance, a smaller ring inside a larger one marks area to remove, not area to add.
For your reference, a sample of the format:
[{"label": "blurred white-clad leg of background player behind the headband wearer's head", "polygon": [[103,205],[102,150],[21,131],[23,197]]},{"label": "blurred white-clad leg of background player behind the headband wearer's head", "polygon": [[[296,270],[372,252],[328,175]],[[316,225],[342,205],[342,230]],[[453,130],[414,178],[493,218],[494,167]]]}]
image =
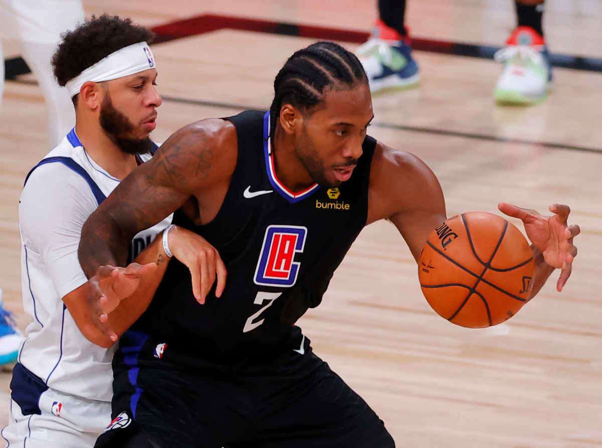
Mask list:
[{"label": "blurred white-clad leg of background player behind the headband wearer's head", "polygon": [[67,88],[60,87],[50,64],[56,50],[54,44],[23,42],[23,59],[36,76],[46,102],[46,135],[51,148],[75,126],[75,109]]}]

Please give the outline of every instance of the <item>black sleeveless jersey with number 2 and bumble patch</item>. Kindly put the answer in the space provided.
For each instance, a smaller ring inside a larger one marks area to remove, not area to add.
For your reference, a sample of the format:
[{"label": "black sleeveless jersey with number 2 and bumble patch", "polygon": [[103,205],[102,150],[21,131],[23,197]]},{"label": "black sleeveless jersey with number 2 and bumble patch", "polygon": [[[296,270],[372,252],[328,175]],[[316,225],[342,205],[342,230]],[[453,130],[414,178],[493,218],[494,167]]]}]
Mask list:
[{"label": "black sleeveless jersey with number 2 and bumble patch", "polygon": [[293,193],[276,177],[269,114],[229,117],[236,127],[238,159],[222,207],[196,226],[177,210],[173,224],[201,235],[228,269],[225,290],[215,286],[200,305],[188,268],[176,259],[147,311],[132,328],[211,358],[269,356],[284,345],[293,324],[320,304],[330,278],[365,226],[368,180],[376,141],[339,188],[311,186]]}]

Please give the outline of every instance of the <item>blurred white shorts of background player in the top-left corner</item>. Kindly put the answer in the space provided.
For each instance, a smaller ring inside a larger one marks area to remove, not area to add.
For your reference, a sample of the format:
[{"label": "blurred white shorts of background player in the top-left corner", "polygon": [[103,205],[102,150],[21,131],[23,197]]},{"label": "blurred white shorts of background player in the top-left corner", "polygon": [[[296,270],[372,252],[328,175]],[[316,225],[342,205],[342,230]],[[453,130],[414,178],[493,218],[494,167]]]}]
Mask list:
[{"label": "blurred white shorts of background player in the top-left corner", "polygon": [[2,35],[25,42],[56,44],[84,17],[81,0],[0,0]]}]

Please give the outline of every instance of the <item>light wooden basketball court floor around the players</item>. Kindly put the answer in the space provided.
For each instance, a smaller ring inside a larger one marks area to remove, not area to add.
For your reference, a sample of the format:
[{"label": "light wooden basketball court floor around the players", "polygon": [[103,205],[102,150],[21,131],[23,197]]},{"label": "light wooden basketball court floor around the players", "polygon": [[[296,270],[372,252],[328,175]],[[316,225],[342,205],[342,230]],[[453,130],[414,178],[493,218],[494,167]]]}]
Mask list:
[{"label": "light wooden basketball court floor around the players", "polygon": [[[149,26],[211,12],[368,30],[375,3],[84,0],[84,7],[88,14],[108,11]],[[502,44],[513,26],[506,0],[409,0],[407,17],[417,37],[491,45]],[[545,31],[553,52],[601,58],[600,23],[598,0],[548,0]],[[278,69],[310,42],[222,30],[158,44],[158,85],[166,100],[155,140],[191,121],[241,110],[224,104],[267,108]],[[16,44],[3,44],[5,57],[19,53]],[[499,201],[541,212],[551,203],[569,204],[571,221],[582,227],[573,276],[562,293],[551,279],[506,324],[456,327],[421,295],[417,267],[396,229],[377,222],[361,233],[323,303],[299,325],[399,447],[602,446],[602,73],[556,69],[546,102],[501,108],[492,102],[500,73],[493,61],[415,57],[420,87],[375,97],[369,133],[432,168],[448,216],[497,212]],[[49,150],[44,123],[39,88],[8,83],[0,111],[0,286],[21,328],[27,322],[17,201],[25,174]],[[9,381],[10,373],[0,374],[2,415]]]}]

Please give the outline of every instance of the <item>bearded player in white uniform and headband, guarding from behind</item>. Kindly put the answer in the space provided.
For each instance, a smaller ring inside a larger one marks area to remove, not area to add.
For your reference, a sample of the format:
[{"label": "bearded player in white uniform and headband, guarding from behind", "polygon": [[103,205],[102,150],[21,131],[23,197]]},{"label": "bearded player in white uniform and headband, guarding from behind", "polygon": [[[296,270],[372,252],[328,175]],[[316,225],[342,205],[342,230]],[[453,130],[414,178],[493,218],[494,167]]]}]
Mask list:
[{"label": "bearded player in white uniform and headband, guarding from behind", "polygon": [[[111,422],[113,342],[81,312],[88,285],[77,250],[90,213],[157,147],[149,139],[161,105],[151,37],[130,20],[93,17],[64,36],[52,60],[76,124],[29,173],[19,201],[30,323],[1,431],[8,447],[92,447]],[[170,219],[135,237],[131,259]]]}]

